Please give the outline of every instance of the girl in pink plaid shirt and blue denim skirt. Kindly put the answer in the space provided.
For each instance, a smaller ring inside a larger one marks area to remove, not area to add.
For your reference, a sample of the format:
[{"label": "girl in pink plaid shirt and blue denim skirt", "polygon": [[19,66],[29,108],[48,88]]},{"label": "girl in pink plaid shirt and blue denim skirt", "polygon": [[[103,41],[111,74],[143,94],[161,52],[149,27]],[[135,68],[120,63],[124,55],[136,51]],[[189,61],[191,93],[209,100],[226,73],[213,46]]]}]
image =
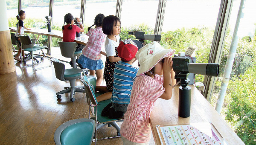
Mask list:
[{"label": "girl in pink plaid shirt and blue denim skirt", "polygon": [[101,48],[105,44],[106,35],[102,31],[102,20],[104,14],[97,14],[94,19],[95,29],[91,29],[92,26],[88,28],[89,36],[86,46],[82,50],[83,55],[78,59],[79,67],[87,68],[90,70],[90,75],[94,75],[96,71],[96,86],[100,86],[103,79],[103,61],[101,60]]}]

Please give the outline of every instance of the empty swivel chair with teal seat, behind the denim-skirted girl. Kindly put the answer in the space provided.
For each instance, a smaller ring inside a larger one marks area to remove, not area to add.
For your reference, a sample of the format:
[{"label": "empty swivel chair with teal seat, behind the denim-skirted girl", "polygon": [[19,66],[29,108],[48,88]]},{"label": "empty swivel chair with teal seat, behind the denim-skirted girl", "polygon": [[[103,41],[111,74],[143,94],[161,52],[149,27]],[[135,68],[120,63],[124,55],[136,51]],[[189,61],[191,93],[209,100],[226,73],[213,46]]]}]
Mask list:
[{"label": "empty swivel chair with teal seat, behind the denim-skirted girl", "polygon": [[65,65],[61,63],[58,59],[54,58],[51,61],[55,69],[56,78],[58,78],[61,81],[70,82],[70,87],[65,87],[65,90],[57,92],[56,97],[60,99],[60,94],[70,93],[70,101],[74,102],[76,99],[73,98],[73,96],[76,92],[85,92],[85,90],[82,89],[84,86],[76,86],[76,79],[81,77],[81,72],[84,72],[84,70],[79,68],[65,69]]}]

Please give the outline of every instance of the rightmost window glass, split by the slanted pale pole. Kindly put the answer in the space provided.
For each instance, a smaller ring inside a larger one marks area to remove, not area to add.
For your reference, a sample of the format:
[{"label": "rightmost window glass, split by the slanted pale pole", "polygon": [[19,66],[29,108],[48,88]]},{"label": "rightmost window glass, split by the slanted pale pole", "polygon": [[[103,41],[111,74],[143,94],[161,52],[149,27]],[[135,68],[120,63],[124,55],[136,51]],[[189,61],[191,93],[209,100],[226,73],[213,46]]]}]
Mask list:
[{"label": "rightmost window glass, split by the slanted pale pole", "polygon": [[[215,83],[211,104],[215,107],[222,77],[232,43],[240,0],[233,1],[232,12],[220,63],[220,75]],[[245,145],[256,142],[256,1],[245,0],[243,15],[237,32],[237,47],[230,81],[221,110],[221,116],[237,133]],[[236,42],[234,41],[234,44]]]}]

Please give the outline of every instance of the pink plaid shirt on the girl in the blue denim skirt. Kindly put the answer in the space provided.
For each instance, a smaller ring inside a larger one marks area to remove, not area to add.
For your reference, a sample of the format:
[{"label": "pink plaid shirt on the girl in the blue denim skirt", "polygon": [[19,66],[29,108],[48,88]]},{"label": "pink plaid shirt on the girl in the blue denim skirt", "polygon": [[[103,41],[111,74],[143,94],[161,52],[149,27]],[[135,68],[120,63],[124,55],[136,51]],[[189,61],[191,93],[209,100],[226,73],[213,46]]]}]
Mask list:
[{"label": "pink plaid shirt on the girl in the blue denim skirt", "polygon": [[102,55],[100,54],[102,46],[105,45],[106,36],[101,27],[91,28],[86,35],[89,36],[86,46],[82,50],[83,55],[94,61],[99,60]]}]

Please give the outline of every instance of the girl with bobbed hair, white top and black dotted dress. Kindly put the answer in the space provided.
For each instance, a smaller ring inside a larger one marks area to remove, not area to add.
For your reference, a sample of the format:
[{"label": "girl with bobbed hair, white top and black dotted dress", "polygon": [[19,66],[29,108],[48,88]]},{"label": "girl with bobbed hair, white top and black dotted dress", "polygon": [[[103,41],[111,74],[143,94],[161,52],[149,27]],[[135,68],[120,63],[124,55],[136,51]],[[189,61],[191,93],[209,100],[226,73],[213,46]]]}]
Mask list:
[{"label": "girl with bobbed hair, white top and black dotted dress", "polygon": [[120,43],[119,33],[121,31],[121,21],[118,17],[109,15],[104,17],[102,21],[102,30],[107,35],[105,42],[105,50],[107,54],[105,62],[104,76],[107,85],[107,92],[111,96],[113,90],[113,72],[117,61],[121,61],[118,57],[117,47]]}]

